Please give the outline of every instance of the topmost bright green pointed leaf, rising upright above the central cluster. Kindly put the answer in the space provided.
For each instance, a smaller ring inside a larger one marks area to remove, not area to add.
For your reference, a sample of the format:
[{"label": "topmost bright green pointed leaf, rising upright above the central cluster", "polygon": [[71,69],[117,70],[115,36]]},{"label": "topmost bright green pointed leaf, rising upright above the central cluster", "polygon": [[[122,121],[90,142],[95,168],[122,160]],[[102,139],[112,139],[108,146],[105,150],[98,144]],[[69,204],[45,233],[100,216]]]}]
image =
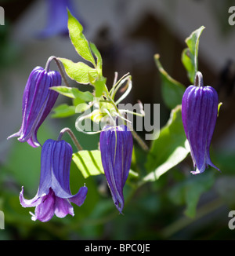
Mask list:
[{"label": "topmost bright green pointed leaf, rising upright above the central cluster", "polygon": [[71,15],[70,11],[68,11],[67,27],[69,30],[71,42],[74,45],[74,48],[76,49],[77,53],[85,60],[90,61],[95,67],[96,61],[92,56],[92,52],[89,47],[89,42],[85,38],[85,35],[83,35],[82,33],[83,27],[78,22],[78,20]]}]

